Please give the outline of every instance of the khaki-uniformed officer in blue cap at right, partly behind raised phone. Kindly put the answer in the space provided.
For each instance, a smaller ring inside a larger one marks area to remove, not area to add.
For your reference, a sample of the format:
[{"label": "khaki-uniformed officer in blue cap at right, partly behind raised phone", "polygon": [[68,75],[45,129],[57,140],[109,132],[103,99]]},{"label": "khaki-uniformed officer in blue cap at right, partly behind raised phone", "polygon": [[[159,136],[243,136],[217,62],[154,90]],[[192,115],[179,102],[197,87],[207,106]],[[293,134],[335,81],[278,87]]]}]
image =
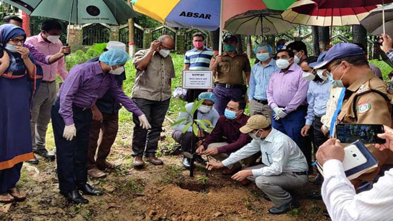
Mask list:
[{"label": "khaki-uniformed officer in blue cap at right, partly behind raised phone", "polygon": [[[383,124],[392,126],[392,96],[387,84],[375,77],[368,66],[363,50],[350,43],[339,43],[326,54],[324,61],[315,69],[326,68],[333,76],[332,85],[345,87],[345,95],[337,123]],[[347,144],[344,143],[343,146]],[[378,168],[352,180],[355,188],[362,181],[371,181],[384,164],[392,163],[392,152],[379,151],[373,144],[366,147],[378,160]]]}]

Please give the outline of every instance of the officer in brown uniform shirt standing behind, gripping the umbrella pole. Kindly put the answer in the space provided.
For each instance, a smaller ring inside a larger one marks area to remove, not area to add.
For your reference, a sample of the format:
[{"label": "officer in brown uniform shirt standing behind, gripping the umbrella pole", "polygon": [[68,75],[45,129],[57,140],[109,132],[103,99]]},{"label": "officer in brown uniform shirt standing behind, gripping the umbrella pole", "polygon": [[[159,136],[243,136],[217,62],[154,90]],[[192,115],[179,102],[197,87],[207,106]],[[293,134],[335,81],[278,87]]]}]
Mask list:
[{"label": "officer in brown uniform shirt standing behind, gripping the umbrella pole", "polygon": [[214,71],[215,87],[213,93],[217,102],[215,109],[220,115],[224,114],[226,104],[231,99],[244,99],[247,86],[244,83],[243,72],[250,80],[250,60],[247,55],[236,52],[237,38],[235,35],[227,35],[224,38],[223,55],[215,56],[210,62],[210,70]]}]

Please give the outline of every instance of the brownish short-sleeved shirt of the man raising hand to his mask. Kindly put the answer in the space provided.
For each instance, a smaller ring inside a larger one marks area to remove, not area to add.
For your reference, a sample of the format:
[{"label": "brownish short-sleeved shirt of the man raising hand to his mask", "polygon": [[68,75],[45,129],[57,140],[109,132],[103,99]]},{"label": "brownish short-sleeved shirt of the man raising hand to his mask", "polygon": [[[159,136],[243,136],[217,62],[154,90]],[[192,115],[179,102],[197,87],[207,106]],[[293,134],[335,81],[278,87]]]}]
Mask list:
[{"label": "brownish short-sleeved shirt of the man raising hand to his mask", "polygon": [[[134,66],[146,55],[148,50],[140,50],[134,56]],[[165,101],[170,98],[171,79],[175,78],[175,70],[172,58],[154,53],[150,63],[144,70],[137,70],[134,87],[132,88],[133,98],[144,98],[152,101]]]}]

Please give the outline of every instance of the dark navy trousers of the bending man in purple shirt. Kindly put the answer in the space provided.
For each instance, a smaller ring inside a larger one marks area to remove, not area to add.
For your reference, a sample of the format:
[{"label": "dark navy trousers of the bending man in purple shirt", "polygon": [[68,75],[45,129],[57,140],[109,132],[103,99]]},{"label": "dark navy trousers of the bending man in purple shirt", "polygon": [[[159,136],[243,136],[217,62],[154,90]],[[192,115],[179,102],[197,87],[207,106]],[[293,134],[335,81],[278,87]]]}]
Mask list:
[{"label": "dark navy trousers of the bending man in purple shirt", "polygon": [[89,145],[89,131],[92,120],[90,109],[74,106],[74,124],[77,136],[71,141],[63,138],[64,120],[58,113],[59,99],[56,98],[52,106],[52,127],[56,144],[57,177],[59,189],[70,192],[76,189],[77,184],[87,182],[87,149]]}]

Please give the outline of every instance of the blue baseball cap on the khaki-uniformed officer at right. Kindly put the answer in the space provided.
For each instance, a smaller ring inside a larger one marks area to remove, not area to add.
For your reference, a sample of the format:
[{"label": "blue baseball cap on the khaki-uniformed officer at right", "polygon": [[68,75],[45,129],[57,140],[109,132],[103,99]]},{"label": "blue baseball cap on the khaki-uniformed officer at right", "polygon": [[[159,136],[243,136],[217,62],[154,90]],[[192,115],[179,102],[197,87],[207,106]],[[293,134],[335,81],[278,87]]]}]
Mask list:
[{"label": "blue baseball cap on the khaki-uniformed officer at right", "polygon": [[[365,55],[363,49],[355,44],[351,43],[338,43],[333,46],[323,58],[323,61],[316,66],[314,69],[320,69],[330,63],[332,60],[342,57],[356,56],[356,55]],[[318,57],[319,60],[319,57]],[[318,62],[318,61],[317,61]],[[311,66],[310,66],[311,67]]]}]

